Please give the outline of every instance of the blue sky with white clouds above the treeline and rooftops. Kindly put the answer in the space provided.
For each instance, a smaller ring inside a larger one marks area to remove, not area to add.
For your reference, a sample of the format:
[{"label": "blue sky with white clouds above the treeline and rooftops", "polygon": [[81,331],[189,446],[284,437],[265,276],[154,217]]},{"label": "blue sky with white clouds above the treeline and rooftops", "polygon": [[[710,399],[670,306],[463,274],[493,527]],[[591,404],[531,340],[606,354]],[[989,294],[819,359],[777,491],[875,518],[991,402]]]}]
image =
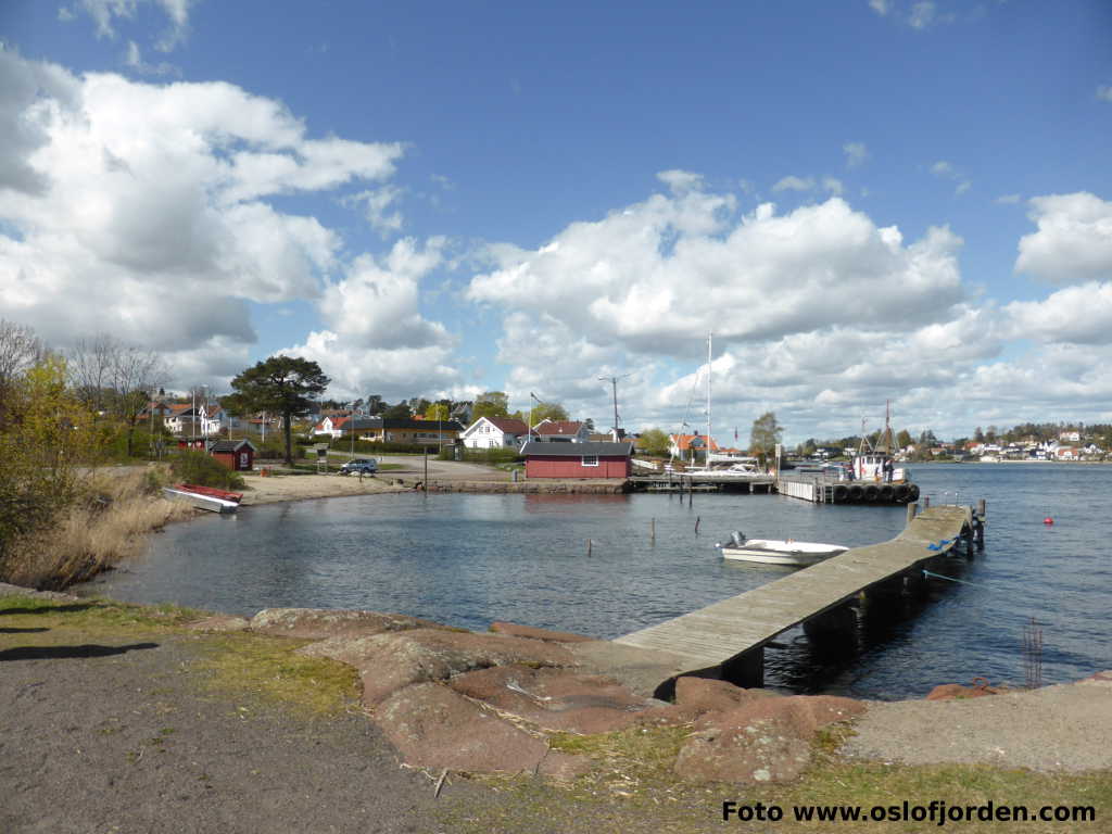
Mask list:
[{"label": "blue sky with white clouds above the treeline and rooftops", "polygon": [[0,46],[0,317],[167,388],[1112,423],[1106,0],[2,0]]}]

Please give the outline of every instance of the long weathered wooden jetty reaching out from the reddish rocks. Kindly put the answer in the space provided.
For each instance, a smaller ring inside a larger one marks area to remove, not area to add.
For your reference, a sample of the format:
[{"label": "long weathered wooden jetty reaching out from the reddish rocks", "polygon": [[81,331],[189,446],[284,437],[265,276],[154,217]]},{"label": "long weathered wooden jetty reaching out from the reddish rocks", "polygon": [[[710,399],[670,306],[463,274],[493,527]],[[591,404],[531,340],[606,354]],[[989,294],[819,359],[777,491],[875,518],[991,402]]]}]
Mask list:
[{"label": "long weathered wooden jetty reaching out from the reddish rocks", "polygon": [[972,543],[979,524],[970,507],[929,507],[890,542],[855,547],[614,643],[678,655],[688,672],[719,667],[723,677],[762,686],[764,646],[776,635],[800,624],[836,628],[846,613],[853,614],[848,604],[861,594],[900,594],[909,583],[921,585],[923,569],[963,537]]}]

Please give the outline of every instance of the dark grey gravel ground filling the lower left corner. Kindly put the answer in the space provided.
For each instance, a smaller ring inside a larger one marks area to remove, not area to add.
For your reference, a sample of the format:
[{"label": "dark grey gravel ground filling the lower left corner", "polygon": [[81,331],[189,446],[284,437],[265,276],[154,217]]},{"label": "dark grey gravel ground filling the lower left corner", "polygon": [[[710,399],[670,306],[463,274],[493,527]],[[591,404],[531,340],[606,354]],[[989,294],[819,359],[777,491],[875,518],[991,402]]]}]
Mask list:
[{"label": "dark grey gravel ground filling the lower left corner", "polygon": [[177,637],[0,651],[0,832],[437,832],[474,791],[434,798],[361,714],[200,689],[195,651]]}]

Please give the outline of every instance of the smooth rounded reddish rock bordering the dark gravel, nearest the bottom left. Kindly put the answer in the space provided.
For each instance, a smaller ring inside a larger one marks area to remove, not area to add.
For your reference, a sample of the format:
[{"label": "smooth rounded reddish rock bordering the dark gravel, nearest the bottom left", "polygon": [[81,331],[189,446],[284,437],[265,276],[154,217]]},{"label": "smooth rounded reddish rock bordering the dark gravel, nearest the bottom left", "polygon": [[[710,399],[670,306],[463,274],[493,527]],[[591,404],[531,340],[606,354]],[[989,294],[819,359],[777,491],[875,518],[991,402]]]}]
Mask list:
[{"label": "smooth rounded reddish rock bordering the dark gravel, nearest the bottom left", "polygon": [[589,766],[585,757],[550,751],[544,739],[438,684],[399,689],[374,719],[406,764],[418,767],[570,777]]}]

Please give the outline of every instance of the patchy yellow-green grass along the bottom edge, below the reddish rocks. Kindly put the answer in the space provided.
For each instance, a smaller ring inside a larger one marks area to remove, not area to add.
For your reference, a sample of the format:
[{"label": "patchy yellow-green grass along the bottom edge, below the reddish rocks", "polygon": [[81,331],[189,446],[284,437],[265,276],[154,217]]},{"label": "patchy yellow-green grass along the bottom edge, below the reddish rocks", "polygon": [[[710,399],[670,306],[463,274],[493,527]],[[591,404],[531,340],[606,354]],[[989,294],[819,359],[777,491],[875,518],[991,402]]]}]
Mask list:
[{"label": "patchy yellow-green grass along the bottom edge, below the reddish rocks", "polygon": [[[941,800],[947,806],[1043,805],[1092,806],[1095,823],[962,822],[946,828],[963,834],[999,834],[1004,831],[1084,832],[1104,831],[1112,814],[1112,778],[1108,772],[1060,775],[974,765],[907,767],[880,762],[842,759],[837,747],[853,734],[850,725],[834,725],[820,733],[814,762],[793,785],[745,787],[733,784],[698,785],[679,781],[673,765],[684,738],[684,728],[631,728],[618,733],[553,736],[554,749],[586,755],[592,770],[568,785],[556,786],[527,777],[484,778],[496,796],[481,807],[464,803],[445,815],[450,830],[478,834],[483,831],[589,832],[718,832],[724,827],[775,831],[788,834],[828,832],[833,826],[863,832],[936,832],[937,822],[805,822],[796,821],[793,806],[861,806],[867,815],[873,806],[927,805]],[[772,823],[729,823],[722,820],[722,803],[763,803],[784,811]]]}]

